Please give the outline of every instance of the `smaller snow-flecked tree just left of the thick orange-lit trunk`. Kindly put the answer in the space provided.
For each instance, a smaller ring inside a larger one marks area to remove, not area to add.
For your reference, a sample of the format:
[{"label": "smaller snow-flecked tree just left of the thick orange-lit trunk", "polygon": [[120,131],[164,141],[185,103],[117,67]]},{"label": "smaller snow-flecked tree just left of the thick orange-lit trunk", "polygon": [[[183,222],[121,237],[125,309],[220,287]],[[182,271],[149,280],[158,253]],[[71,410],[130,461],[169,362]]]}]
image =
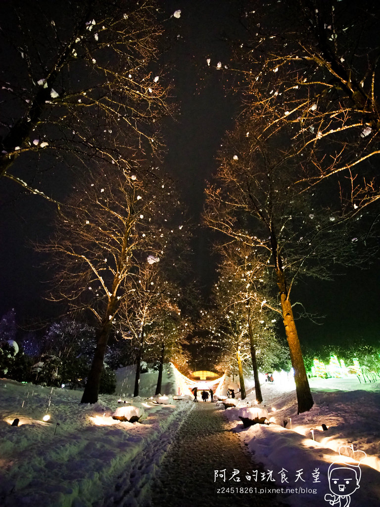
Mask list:
[{"label": "smaller snow-flecked tree just left of the thick orange-lit trunk", "polygon": [[[214,329],[214,336],[218,333],[222,337],[224,336],[219,345],[217,342],[215,343],[216,347],[221,346],[223,350],[228,350],[228,344],[230,344],[236,355],[239,345],[239,353],[235,358],[238,371],[238,356],[243,363],[247,362],[245,356],[249,351],[256,400],[261,403],[259,362],[262,366],[265,365],[268,368],[271,365],[273,368],[273,359],[283,348],[274,333],[274,323],[276,322],[274,313],[281,312],[278,309],[270,309],[270,296],[264,297],[265,267],[255,261],[250,246],[233,241],[218,247],[218,252],[221,260],[218,267],[218,281],[212,292],[213,308],[210,312],[205,313],[203,321],[208,322],[208,329]],[[276,302],[272,303],[272,308],[275,304]],[[211,317],[213,328],[210,328],[209,325]],[[229,322],[229,326],[225,328],[228,331],[222,332],[218,322],[223,322],[225,319]],[[231,325],[232,322],[233,325]],[[236,332],[232,332],[232,329],[235,329]],[[273,349],[276,349],[274,354]],[[284,351],[282,351],[282,355],[284,355]],[[263,359],[264,357],[267,359]]]}]

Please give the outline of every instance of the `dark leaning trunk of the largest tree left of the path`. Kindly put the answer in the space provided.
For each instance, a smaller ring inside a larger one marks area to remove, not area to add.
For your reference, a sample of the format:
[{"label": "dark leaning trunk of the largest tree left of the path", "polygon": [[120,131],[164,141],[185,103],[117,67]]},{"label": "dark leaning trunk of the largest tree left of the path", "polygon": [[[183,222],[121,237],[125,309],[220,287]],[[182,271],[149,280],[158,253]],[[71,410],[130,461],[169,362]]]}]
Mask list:
[{"label": "dark leaning trunk of the largest tree left of the path", "polygon": [[98,401],[100,377],[103,370],[104,356],[110,331],[111,321],[109,319],[108,321],[103,321],[81,403],[96,403]]}]

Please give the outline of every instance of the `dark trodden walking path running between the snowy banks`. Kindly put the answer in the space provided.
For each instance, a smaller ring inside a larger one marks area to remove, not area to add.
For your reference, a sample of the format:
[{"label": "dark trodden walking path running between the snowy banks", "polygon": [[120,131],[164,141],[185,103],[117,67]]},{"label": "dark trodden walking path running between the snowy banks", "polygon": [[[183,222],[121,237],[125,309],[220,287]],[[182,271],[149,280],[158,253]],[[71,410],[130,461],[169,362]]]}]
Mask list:
[{"label": "dark trodden walking path running between the snowy banks", "polygon": [[[274,495],[259,492],[268,484],[253,482],[253,479],[247,482],[246,473],[252,474],[260,468],[252,463],[231,427],[221,411],[215,410],[214,404],[200,402],[196,405],[163,461],[153,486],[153,507],[285,505]],[[225,482],[222,479],[214,482],[215,470],[224,469]],[[229,481],[234,469],[240,470],[241,482]],[[226,492],[227,488],[230,492]],[[231,488],[234,488],[233,493]],[[240,493],[241,488],[243,493]]]}]

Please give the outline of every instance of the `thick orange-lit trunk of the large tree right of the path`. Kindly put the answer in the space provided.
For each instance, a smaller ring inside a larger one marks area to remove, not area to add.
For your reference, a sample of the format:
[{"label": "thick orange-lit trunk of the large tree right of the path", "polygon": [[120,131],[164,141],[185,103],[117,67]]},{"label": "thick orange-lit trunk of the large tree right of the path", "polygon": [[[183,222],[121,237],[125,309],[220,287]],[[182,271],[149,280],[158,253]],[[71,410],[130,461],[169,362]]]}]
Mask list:
[{"label": "thick orange-lit trunk of the large tree right of the path", "polygon": [[303,363],[301,346],[299,343],[297,329],[295,327],[293,310],[290,299],[287,297],[285,275],[281,269],[276,269],[277,284],[280,291],[282,316],[286,339],[289,345],[290,359],[294,370],[295,390],[297,393],[298,414],[307,412],[314,404],[313,396],[309,386],[308,376],[306,374],[305,363]]}]

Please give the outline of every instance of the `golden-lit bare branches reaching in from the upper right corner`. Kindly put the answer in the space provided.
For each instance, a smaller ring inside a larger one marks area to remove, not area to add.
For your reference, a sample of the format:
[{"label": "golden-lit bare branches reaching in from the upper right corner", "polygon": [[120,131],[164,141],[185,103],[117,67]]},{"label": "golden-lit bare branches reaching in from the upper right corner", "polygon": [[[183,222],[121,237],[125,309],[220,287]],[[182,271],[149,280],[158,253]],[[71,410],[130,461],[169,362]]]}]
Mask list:
[{"label": "golden-lit bare branches reaching in from the upper right corner", "polygon": [[224,70],[239,76],[246,114],[262,118],[257,138],[282,142],[303,183],[338,183],[346,215],[380,195],[379,17],[367,1],[252,2],[246,40]]}]

